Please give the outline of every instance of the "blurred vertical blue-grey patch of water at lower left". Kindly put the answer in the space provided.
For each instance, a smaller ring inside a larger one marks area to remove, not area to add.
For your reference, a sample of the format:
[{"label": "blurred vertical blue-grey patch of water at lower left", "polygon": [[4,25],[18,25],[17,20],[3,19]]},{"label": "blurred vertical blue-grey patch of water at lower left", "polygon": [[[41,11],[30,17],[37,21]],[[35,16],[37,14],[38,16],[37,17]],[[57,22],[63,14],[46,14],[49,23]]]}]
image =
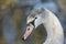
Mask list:
[{"label": "blurred vertical blue-grey patch of water at lower left", "polygon": [[[13,21],[12,21],[13,22]],[[3,19],[3,36],[7,40],[7,44],[14,44],[16,28],[15,24],[10,21],[10,16],[7,15]]]}]

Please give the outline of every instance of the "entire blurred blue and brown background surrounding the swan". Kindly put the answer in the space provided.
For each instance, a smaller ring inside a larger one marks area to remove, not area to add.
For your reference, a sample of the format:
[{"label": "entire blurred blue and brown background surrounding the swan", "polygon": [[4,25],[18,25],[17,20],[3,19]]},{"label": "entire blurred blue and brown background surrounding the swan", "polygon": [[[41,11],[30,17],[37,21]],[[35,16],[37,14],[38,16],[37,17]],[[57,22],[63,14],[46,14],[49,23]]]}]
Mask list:
[{"label": "entire blurred blue and brown background surrounding the swan", "polygon": [[42,44],[47,36],[43,25],[34,30],[26,41],[22,41],[26,16],[33,8],[42,6],[59,19],[66,44],[66,0],[0,0],[0,44]]}]

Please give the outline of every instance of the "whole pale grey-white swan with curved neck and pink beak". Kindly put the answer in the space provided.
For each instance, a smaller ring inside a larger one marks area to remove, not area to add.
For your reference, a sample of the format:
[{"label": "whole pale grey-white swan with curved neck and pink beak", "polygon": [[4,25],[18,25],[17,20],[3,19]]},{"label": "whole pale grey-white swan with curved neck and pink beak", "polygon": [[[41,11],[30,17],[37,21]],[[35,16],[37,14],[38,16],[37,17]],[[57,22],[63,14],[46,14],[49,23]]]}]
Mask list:
[{"label": "whole pale grey-white swan with curved neck and pink beak", "polygon": [[43,24],[47,32],[47,37],[43,44],[64,44],[63,26],[55,14],[46,8],[34,8],[26,20],[28,28],[22,37],[23,41],[30,36],[33,30]]}]

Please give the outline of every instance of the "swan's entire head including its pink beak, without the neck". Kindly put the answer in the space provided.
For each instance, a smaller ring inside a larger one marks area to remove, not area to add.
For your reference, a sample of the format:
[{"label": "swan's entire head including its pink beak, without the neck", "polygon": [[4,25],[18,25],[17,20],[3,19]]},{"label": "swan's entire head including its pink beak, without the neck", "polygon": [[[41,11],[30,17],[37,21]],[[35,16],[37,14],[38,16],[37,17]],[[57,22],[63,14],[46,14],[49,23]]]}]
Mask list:
[{"label": "swan's entire head including its pink beak, without the neck", "polygon": [[34,9],[31,11],[30,15],[26,19],[28,26],[22,40],[26,40],[31,35],[32,31],[42,24],[42,11],[43,10],[40,9]]}]

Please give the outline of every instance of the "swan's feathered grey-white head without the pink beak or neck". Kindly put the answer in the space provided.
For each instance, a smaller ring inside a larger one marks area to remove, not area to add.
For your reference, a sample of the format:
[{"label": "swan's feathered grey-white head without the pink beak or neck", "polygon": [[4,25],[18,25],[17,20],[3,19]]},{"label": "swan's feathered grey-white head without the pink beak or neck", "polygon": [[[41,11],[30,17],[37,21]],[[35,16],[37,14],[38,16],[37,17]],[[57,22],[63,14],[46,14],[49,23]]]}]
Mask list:
[{"label": "swan's feathered grey-white head without the pink beak or neck", "polygon": [[26,24],[33,23],[35,29],[42,24],[42,16],[44,16],[42,15],[42,12],[45,12],[44,10],[44,8],[34,8],[26,19]]}]

